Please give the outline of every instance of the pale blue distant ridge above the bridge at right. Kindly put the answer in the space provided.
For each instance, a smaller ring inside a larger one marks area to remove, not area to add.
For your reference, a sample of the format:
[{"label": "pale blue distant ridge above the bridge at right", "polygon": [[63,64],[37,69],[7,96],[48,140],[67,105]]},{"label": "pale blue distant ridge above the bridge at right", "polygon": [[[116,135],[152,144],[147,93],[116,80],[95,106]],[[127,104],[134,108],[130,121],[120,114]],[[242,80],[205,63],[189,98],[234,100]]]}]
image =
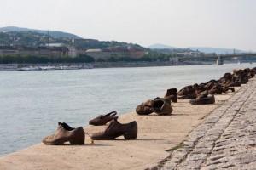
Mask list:
[{"label": "pale blue distant ridge above the bridge at right", "polygon": [[[234,49],[230,48],[208,48],[208,47],[189,47],[192,50],[198,50],[203,53],[215,53],[215,54],[233,54]],[[246,53],[246,51],[242,51],[240,49],[235,49],[236,53]]]}]

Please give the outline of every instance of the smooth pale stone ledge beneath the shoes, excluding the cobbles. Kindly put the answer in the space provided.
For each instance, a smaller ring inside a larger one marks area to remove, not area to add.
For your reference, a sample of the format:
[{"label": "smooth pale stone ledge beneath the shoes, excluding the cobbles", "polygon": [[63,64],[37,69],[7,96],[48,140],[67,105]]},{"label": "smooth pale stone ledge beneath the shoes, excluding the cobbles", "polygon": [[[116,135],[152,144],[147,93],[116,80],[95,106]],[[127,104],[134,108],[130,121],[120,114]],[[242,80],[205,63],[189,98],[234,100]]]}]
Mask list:
[{"label": "smooth pale stone ledge beneath the shoes, excluding the cobbles", "polygon": [[[240,88],[236,88],[236,92]],[[189,100],[172,103],[172,116],[138,116],[135,111],[119,116],[120,123],[137,121],[135,140],[119,137],[96,140],[90,144],[88,135],[84,145],[36,144],[0,157],[1,169],[145,169],[160,166],[170,153],[181,146],[189,132],[204,118],[235,93],[216,95],[213,105],[190,105]],[[146,99],[144,99],[146,100]],[[143,102],[143,101],[142,101]],[[106,126],[85,125],[86,133],[102,131]],[[43,139],[43,136],[42,136]]]}]

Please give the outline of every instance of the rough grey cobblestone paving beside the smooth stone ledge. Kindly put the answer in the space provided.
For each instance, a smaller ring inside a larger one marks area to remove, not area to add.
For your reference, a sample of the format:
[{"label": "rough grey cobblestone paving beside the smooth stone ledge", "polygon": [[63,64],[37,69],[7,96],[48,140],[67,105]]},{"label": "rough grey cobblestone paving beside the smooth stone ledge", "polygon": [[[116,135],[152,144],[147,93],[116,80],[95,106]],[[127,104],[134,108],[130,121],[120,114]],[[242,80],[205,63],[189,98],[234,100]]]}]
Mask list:
[{"label": "rough grey cobblestone paving beside the smooth stone ledge", "polygon": [[256,169],[256,78],[212,111],[161,169]]}]

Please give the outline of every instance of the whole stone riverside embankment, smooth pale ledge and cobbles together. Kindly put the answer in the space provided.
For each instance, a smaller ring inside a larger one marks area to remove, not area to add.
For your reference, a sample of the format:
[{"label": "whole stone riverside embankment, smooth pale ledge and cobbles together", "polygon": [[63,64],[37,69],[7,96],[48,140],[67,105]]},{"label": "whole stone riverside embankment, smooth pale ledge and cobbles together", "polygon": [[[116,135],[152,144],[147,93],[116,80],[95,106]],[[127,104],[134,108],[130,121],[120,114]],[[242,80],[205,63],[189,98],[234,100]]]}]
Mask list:
[{"label": "whole stone riverside embankment, smooth pale ledge and cobbles together", "polygon": [[[40,143],[0,157],[0,169],[255,169],[255,94],[254,77],[235,93],[215,95],[212,105],[181,99],[172,103],[172,116],[132,111],[118,120],[137,121],[136,140],[120,137],[92,144],[86,135],[83,145]],[[86,125],[84,131],[105,128]]]}]

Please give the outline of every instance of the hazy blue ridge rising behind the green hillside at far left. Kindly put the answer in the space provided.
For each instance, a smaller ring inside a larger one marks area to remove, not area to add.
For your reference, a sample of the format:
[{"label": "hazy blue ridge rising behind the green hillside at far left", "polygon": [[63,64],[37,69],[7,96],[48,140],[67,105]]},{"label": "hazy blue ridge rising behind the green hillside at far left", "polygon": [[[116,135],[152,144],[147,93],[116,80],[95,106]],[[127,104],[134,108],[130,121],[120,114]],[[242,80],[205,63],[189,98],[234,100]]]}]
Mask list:
[{"label": "hazy blue ridge rising behind the green hillside at far left", "polygon": [[[15,26],[7,26],[7,27],[1,27],[0,31],[34,31],[41,34],[48,35],[48,31],[46,30],[35,30],[35,29],[29,29],[29,28],[20,28]],[[74,38],[74,39],[81,39],[81,37],[76,36],[71,33],[62,32],[62,31],[49,31],[49,36],[51,37],[67,37],[67,38]]]}]

